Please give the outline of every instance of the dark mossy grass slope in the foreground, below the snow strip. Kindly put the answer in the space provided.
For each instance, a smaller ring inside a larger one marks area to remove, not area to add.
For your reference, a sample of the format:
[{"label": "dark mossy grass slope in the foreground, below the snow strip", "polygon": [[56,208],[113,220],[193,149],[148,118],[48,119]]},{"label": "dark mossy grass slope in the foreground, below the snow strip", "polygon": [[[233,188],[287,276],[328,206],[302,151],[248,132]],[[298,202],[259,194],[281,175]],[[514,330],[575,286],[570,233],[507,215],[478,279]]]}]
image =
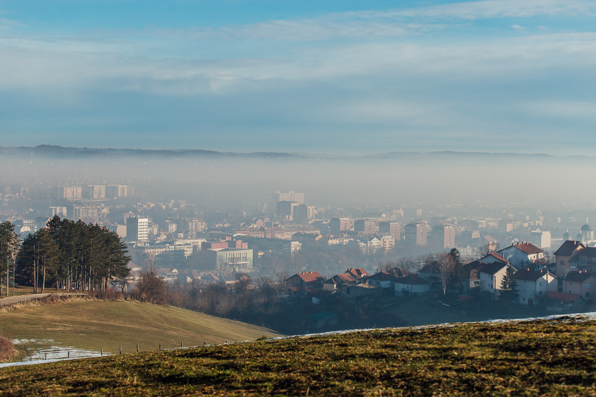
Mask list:
[{"label": "dark mossy grass slope in the foreground, below the snow strip", "polygon": [[581,396],[596,321],[381,329],[0,369],[0,395]]}]

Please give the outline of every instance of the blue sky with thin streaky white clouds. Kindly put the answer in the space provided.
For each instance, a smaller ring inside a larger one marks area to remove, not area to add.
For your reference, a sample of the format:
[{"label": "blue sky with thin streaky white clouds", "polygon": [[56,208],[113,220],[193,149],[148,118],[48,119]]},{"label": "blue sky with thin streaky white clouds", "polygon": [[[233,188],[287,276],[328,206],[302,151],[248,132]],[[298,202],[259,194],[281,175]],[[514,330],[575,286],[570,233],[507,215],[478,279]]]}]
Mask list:
[{"label": "blue sky with thin streaky white clouds", "polygon": [[593,155],[596,1],[0,0],[0,146]]}]

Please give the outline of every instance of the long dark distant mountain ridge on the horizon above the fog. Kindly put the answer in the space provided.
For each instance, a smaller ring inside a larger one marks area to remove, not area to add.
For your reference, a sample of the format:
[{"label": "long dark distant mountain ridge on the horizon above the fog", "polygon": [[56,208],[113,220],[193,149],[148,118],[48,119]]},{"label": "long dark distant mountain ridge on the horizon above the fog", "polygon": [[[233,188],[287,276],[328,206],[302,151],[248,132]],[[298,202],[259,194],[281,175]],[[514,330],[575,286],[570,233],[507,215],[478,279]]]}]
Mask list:
[{"label": "long dark distant mountain ridge on the horizon above the fog", "polygon": [[555,156],[551,154],[527,153],[498,153],[498,152],[387,152],[367,155],[333,155],[333,154],[308,154],[290,152],[219,152],[206,149],[115,149],[115,148],[75,148],[58,145],[38,146],[0,146],[0,154],[27,154],[44,155],[47,157],[127,157],[127,156],[159,156],[159,157],[249,157],[249,158],[296,158],[296,159],[388,159],[407,157],[509,157],[509,158],[593,158],[583,155]]}]

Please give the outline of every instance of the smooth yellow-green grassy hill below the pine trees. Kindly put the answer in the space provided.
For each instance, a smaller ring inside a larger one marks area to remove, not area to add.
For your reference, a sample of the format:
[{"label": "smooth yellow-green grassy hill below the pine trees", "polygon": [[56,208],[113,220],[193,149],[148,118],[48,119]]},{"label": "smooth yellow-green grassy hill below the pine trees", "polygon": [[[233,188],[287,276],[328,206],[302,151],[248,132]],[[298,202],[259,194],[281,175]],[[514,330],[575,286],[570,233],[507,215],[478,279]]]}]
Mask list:
[{"label": "smooth yellow-green grassy hill below the pine trees", "polygon": [[[253,340],[276,336],[271,330],[175,307],[136,301],[74,299],[0,311],[0,335],[17,339],[49,339],[64,346],[105,352]],[[44,343],[43,341],[37,343]],[[17,345],[35,349],[35,342]]]}]

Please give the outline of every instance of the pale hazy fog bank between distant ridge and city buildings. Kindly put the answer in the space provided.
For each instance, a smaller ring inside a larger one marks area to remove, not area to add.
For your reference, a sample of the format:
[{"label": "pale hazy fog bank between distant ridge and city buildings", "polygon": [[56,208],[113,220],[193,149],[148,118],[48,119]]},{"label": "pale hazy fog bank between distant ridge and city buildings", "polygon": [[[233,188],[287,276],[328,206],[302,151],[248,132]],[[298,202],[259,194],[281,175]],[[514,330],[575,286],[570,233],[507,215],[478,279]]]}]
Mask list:
[{"label": "pale hazy fog bank between distant ridge and city buildings", "polygon": [[2,148],[0,161],[0,182],[27,185],[32,194],[66,183],[128,183],[147,192],[148,199],[176,197],[204,205],[260,204],[271,200],[273,190],[284,189],[306,192],[308,202],[333,207],[586,205],[596,193],[586,183],[596,171],[591,157],[469,152],[342,157],[38,146]]}]

